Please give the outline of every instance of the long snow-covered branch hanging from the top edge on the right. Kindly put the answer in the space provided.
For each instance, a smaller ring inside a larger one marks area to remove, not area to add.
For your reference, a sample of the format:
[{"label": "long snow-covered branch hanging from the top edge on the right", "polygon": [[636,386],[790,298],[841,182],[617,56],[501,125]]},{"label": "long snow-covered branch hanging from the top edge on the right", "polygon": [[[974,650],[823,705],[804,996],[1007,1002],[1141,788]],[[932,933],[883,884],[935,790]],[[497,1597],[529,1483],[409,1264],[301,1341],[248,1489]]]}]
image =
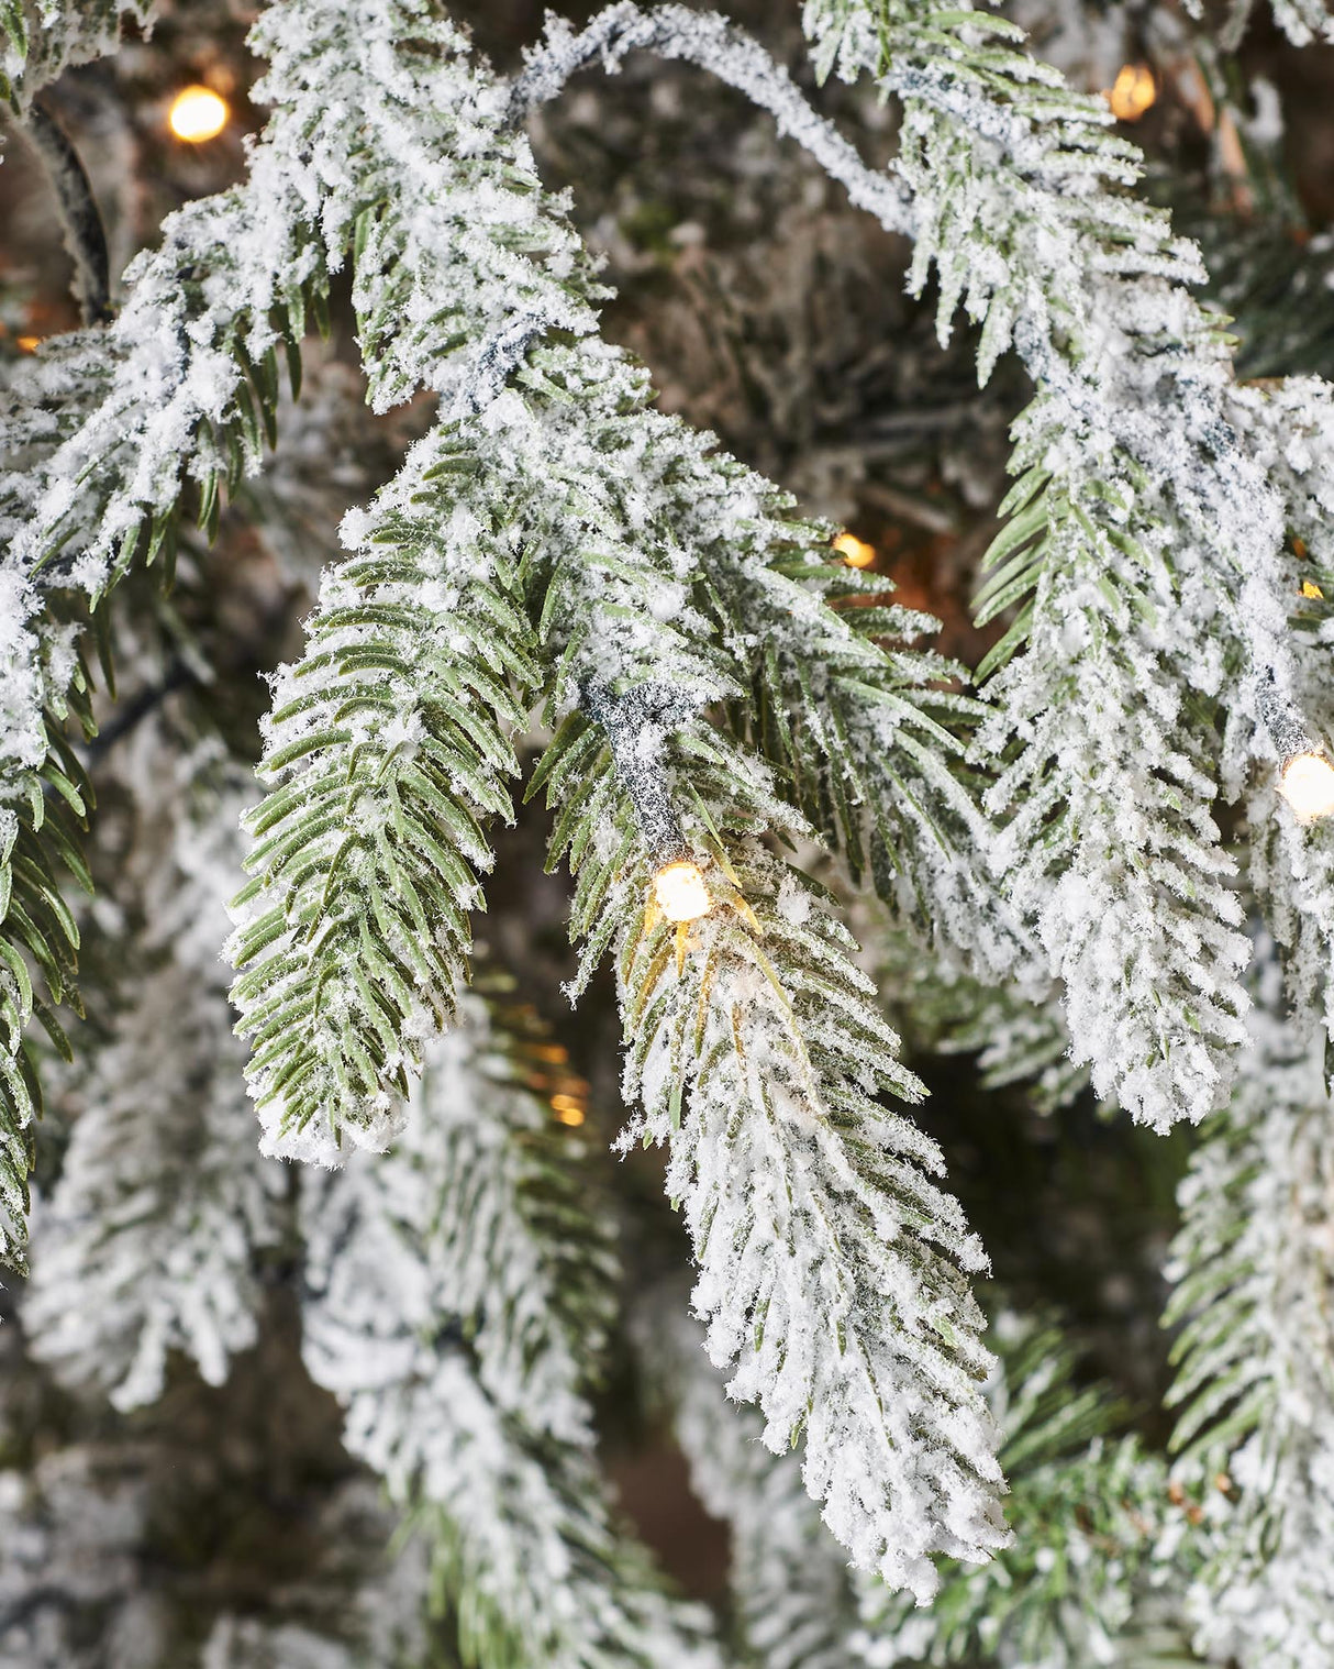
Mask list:
[{"label": "long snow-covered branch hanging from the top edge on the right", "polygon": [[979,604],[984,621],[1017,611],[980,668],[1000,876],[1099,1092],[1156,1127],[1201,1118],[1226,1098],[1246,1006],[1209,761],[1227,711],[1254,718],[1271,678],[1287,691],[1291,656],[1279,496],[1182,289],[1197,257],[1119,189],[1137,155],[1101,100],[1016,50],[1014,25],[809,0],[805,28],[822,72],[904,100],[895,169],[940,330],[962,302],[980,376],[1014,345],[1037,384]]}]

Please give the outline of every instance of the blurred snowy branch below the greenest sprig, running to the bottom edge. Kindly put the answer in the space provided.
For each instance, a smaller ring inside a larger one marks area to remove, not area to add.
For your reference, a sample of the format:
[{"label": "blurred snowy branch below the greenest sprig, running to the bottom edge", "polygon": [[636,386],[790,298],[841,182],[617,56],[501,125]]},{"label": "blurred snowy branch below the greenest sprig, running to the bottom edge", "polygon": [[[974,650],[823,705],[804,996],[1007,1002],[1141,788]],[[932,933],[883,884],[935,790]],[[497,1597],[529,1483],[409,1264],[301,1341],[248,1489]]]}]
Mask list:
[{"label": "blurred snowy branch below the greenest sprig, running to the bottom edge", "polygon": [[524,1075],[522,1045],[469,998],[400,1143],[307,1175],[305,1360],[432,1542],[467,1664],[717,1669],[704,1617],[607,1507],[582,1399],[605,1227]]}]

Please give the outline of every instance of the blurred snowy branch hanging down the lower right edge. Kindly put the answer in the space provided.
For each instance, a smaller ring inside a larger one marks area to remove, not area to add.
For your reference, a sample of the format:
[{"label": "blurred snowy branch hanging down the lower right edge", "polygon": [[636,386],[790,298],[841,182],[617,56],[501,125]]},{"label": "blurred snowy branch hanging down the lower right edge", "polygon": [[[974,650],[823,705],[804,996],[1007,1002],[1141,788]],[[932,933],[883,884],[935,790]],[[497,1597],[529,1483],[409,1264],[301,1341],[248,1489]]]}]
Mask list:
[{"label": "blurred snowy branch hanging down the lower right edge", "polygon": [[1202,1649],[1316,1669],[1334,1649],[1334,1122],[1324,1050],[1261,946],[1251,1058],[1181,1185],[1176,1470],[1202,1500]]}]

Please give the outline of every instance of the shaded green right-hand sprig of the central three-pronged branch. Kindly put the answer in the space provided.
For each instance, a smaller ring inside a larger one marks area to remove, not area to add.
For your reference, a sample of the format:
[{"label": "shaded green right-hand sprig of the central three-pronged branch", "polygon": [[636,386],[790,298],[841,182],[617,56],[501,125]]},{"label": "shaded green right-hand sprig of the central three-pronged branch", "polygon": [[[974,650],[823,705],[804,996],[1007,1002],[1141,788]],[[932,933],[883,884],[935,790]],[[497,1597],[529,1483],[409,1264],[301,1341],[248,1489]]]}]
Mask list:
[{"label": "shaded green right-hand sprig of the central three-pronged branch", "polygon": [[884,606],[884,581],[829,562],[800,524],[787,539],[755,532],[719,539],[707,577],[747,693],[729,709],[734,734],[774,766],[854,885],[869,870],[919,938],[1031,988],[1037,946],[992,881],[995,831],[975,799],[982,779],[964,769],[984,708],[942,688],[962,668],[907,648],[937,623]]}]

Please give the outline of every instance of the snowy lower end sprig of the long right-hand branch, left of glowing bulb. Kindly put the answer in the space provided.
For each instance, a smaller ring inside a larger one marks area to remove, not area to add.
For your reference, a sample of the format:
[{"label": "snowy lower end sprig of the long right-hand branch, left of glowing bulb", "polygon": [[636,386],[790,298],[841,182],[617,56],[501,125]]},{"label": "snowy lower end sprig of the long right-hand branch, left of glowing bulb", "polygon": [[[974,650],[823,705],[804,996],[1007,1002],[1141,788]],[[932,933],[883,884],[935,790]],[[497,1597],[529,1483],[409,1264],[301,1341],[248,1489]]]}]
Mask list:
[{"label": "snowy lower end sprig of the long right-hand branch, left of glowing bulb", "polygon": [[1002,771],[985,804],[1009,814],[997,858],[1064,980],[1076,1065],[1166,1128],[1217,1103],[1244,1041],[1249,943],[1212,816],[1217,743],[1171,664],[1171,594],[1102,591],[1114,546],[1087,521],[1042,537],[1062,561],[1039,579],[1027,654],[990,689],[979,748]]}]

